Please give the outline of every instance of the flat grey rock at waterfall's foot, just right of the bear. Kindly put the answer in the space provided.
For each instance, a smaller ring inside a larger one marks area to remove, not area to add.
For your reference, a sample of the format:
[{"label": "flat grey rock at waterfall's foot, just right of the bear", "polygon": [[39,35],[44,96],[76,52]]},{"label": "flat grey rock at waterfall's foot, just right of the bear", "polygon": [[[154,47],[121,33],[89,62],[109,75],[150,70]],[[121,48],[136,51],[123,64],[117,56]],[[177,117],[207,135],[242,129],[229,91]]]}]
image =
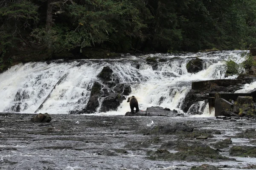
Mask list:
[{"label": "flat grey rock at waterfall's foot, just right of the bear", "polygon": [[146,110],[146,115],[147,116],[177,116],[176,113],[173,113],[171,110],[164,110],[164,108],[160,106],[152,106],[150,108],[147,108]]}]

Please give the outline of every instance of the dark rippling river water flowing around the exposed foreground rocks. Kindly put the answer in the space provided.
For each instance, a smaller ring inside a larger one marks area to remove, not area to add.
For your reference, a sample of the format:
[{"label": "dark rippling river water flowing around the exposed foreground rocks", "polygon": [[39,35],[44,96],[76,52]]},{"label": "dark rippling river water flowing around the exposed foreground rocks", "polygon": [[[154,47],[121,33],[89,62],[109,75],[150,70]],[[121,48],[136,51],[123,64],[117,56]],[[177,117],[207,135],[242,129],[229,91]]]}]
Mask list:
[{"label": "dark rippling river water flowing around the exposed foreground rocks", "polygon": [[[230,147],[251,145],[251,139],[235,137],[247,128],[256,128],[256,121],[251,119],[56,114],[49,123],[32,123],[29,120],[33,116],[35,114],[0,113],[1,170],[189,170],[201,164],[236,170],[256,164],[256,158],[229,156],[228,148],[220,154],[236,161],[153,161],[146,154],[165,142],[177,140],[188,144],[199,140],[212,147],[230,137],[233,141]],[[221,134],[202,140],[140,133],[150,128],[151,121],[154,126],[183,122],[198,129],[220,130]],[[148,144],[156,137],[159,143]]]}]

